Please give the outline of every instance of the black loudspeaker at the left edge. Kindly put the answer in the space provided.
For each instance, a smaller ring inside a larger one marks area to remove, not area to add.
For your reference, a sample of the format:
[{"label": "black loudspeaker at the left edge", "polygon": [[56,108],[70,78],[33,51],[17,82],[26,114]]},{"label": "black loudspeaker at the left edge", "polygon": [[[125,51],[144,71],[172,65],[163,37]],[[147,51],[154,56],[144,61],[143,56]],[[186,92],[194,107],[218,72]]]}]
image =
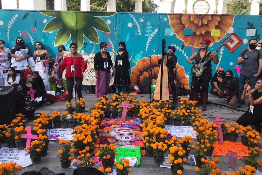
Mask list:
[{"label": "black loudspeaker at the left edge", "polygon": [[16,118],[14,86],[0,86],[0,124],[10,124]]}]

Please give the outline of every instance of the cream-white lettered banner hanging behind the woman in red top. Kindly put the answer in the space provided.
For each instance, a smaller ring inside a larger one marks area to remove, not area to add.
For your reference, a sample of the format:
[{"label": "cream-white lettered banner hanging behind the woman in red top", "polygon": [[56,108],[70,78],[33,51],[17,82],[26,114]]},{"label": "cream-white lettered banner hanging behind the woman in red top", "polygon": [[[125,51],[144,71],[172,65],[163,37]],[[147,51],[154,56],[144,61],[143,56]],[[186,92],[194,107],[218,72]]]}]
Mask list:
[{"label": "cream-white lettered banner hanging behind the woman in red top", "polygon": [[[70,52],[64,51],[64,56],[67,55]],[[111,60],[113,62],[113,66],[115,65],[115,54],[113,52],[109,52],[111,56]],[[89,64],[87,64],[87,70],[83,73],[84,78],[82,85],[96,85],[96,74],[95,74],[95,69],[94,69],[94,57],[96,54],[85,54],[81,53],[83,56],[84,60],[88,60]],[[111,68],[111,73],[112,73],[112,68]],[[110,73],[110,75],[111,75]],[[110,76],[108,75],[108,76]],[[63,72],[63,78],[65,77],[65,71]],[[110,84],[113,85],[114,83],[114,77],[110,79]]]}]

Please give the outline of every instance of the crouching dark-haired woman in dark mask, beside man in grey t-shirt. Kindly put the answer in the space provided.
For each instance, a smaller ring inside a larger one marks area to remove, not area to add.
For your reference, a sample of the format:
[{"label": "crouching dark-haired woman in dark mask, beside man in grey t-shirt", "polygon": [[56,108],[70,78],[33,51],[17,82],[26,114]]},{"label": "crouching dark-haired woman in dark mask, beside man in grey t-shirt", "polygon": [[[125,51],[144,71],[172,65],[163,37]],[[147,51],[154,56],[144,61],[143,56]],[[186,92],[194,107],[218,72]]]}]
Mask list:
[{"label": "crouching dark-haired woman in dark mask, beside man in grey t-shirt", "polygon": [[229,101],[229,105],[235,105],[237,103],[237,95],[239,91],[239,82],[236,77],[233,77],[233,72],[227,70],[226,78],[224,78],[219,85],[220,91],[219,97],[224,97],[224,102]]}]

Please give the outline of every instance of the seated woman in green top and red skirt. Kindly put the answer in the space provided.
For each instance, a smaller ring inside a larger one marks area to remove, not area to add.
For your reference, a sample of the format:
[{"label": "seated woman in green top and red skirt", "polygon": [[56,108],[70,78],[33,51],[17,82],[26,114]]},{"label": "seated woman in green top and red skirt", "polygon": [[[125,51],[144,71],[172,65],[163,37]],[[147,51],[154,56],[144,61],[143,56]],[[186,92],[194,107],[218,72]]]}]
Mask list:
[{"label": "seated woman in green top and red skirt", "polygon": [[[46,94],[49,99],[56,102],[61,102],[67,100],[68,89],[66,81],[63,78],[58,77],[58,73],[51,70],[51,76],[48,78],[49,90],[54,91],[55,96],[51,94]],[[62,91],[63,90],[63,91]]]}]

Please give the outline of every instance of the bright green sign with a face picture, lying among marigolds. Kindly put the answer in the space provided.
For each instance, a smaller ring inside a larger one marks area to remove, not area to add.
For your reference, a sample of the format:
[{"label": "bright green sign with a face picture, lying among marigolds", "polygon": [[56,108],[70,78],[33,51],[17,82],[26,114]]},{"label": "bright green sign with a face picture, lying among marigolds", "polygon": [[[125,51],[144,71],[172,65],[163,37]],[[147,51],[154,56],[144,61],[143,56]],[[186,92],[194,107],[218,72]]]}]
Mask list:
[{"label": "bright green sign with a face picture, lying among marigolds", "polygon": [[122,164],[121,162],[124,159],[129,159],[129,166],[135,167],[140,164],[140,147],[137,148],[116,148],[115,149],[118,155],[116,156],[115,160]]}]

